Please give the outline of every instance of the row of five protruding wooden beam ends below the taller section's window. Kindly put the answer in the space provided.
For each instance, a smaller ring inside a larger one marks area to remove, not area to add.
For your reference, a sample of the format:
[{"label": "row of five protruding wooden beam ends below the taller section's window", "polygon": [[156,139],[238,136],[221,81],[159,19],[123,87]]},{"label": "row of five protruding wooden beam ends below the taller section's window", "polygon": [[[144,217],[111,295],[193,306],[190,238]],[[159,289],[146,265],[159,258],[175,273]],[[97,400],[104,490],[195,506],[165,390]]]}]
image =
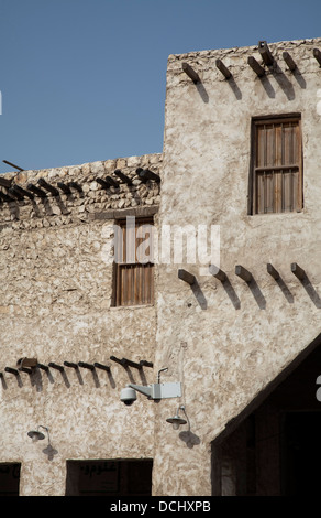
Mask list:
[{"label": "row of five protruding wooden beam ends below the taller section's window", "polygon": [[[280,278],[279,272],[269,262],[266,265],[266,270],[276,281]],[[209,272],[213,277],[219,279],[221,282],[225,282],[228,280],[226,273],[214,265],[210,265]],[[307,277],[305,270],[301,267],[299,267],[297,262],[291,263],[291,272],[300,280],[303,280]],[[235,266],[235,276],[243,279],[246,283],[250,283],[253,281],[252,273],[248,270],[246,270],[246,268],[244,268],[242,265]],[[184,270],[184,269],[178,270],[178,278],[187,282],[190,285],[192,285],[196,282],[196,277],[189,271]]]}]

